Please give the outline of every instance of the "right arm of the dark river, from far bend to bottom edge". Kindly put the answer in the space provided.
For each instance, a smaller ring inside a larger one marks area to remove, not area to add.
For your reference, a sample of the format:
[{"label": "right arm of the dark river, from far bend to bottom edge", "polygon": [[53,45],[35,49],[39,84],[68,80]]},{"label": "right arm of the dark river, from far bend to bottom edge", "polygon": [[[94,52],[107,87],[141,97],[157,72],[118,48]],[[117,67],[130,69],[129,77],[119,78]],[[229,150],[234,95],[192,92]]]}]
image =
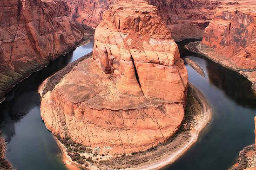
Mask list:
[{"label": "right arm of the dark river, from far bend to bottom edge", "polygon": [[186,65],[189,82],[209,101],[213,119],[195,145],[162,170],[227,170],[238,152],[254,143],[256,95],[251,83],[240,74],[184,49],[189,42],[178,44],[181,57],[189,57],[204,70],[205,77]]}]

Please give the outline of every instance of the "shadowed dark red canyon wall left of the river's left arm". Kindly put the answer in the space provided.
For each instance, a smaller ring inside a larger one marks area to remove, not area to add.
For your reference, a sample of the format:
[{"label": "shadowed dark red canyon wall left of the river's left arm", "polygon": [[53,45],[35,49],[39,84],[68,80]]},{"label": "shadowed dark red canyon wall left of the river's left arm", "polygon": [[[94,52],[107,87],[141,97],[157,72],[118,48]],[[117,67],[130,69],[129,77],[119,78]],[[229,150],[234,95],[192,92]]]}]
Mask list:
[{"label": "shadowed dark red canyon wall left of the river's left arm", "polygon": [[62,0],[0,0],[0,18],[0,101],[91,31],[74,23]]}]

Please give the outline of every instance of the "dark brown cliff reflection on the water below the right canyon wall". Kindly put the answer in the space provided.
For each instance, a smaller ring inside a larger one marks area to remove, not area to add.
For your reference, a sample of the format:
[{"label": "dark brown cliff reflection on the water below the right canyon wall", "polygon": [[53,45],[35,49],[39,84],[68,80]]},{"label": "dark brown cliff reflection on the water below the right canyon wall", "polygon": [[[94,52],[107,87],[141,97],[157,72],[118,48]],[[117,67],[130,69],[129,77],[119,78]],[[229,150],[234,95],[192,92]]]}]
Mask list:
[{"label": "dark brown cliff reflection on the water below the right canyon wall", "polygon": [[[199,39],[201,40],[201,39]],[[209,60],[203,55],[186,50],[184,45],[195,40],[183,40],[177,43],[180,50],[181,57],[195,56],[204,58],[207,62],[207,72],[209,77],[209,82],[220,88],[224,93],[232,100],[234,100],[238,105],[243,107],[255,108],[255,92],[251,88],[251,82],[249,82],[244,76],[240,75],[234,70],[223,67],[221,64],[215,63]],[[220,99],[221,100],[221,99]]]}]

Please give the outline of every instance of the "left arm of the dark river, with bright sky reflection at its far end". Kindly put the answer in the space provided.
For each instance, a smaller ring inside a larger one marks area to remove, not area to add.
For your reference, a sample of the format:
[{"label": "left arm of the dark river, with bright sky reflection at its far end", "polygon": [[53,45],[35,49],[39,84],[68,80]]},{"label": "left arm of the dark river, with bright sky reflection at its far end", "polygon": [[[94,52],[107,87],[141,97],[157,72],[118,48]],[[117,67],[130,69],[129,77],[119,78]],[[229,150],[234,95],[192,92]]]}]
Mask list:
[{"label": "left arm of the dark river, with bright sky reflection at its far end", "polygon": [[18,170],[66,170],[56,144],[40,117],[37,88],[48,76],[92,51],[93,42],[82,45],[64,57],[20,82],[0,104],[0,129],[7,141],[6,158]]}]

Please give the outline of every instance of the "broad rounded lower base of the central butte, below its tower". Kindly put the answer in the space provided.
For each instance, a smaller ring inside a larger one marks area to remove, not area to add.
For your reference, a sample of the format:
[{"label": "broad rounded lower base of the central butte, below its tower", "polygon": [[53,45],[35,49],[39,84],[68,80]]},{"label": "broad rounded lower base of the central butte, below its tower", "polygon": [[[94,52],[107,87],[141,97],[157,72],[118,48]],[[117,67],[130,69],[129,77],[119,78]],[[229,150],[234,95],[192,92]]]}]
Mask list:
[{"label": "broad rounded lower base of the central butte, below its tower", "polygon": [[144,151],[178,130],[183,103],[122,94],[115,81],[92,58],[83,60],[43,96],[41,116],[47,128],[99,147],[101,154]]}]

